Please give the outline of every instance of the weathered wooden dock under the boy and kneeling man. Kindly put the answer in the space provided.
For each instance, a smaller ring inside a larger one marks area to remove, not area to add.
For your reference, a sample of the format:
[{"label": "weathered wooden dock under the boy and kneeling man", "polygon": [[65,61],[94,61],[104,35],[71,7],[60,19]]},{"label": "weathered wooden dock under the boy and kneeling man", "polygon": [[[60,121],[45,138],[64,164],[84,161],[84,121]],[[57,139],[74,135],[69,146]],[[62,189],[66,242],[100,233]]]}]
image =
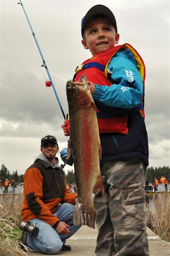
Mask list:
[{"label": "weathered wooden dock under the boy and kneeling man", "polygon": [[[149,239],[150,256],[170,255],[170,243],[160,239],[154,232],[147,228]],[[71,251],[60,252],[63,256],[95,256],[97,229],[82,226],[72,237],[67,239],[66,244],[71,246]],[[44,255],[35,251],[29,251],[28,256]]]}]

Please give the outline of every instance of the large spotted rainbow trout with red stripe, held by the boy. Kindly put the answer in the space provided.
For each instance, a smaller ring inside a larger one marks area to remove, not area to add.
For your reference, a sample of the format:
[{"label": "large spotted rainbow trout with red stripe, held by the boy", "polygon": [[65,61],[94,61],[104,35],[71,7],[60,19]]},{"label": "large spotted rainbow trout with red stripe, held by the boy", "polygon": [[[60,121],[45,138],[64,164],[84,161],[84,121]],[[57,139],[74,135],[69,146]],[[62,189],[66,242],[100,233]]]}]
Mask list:
[{"label": "large spotted rainbow trout with red stripe, held by the boy", "polygon": [[96,194],[99,187],[104,194],[99,166],[101,145],[96,107],[85,75],[81,76],[79,82],[67,81],[66,91],[70,118],[67,156],[72,152],[78,189],[73,212],[74,225],[95,228],[92,193]]}]

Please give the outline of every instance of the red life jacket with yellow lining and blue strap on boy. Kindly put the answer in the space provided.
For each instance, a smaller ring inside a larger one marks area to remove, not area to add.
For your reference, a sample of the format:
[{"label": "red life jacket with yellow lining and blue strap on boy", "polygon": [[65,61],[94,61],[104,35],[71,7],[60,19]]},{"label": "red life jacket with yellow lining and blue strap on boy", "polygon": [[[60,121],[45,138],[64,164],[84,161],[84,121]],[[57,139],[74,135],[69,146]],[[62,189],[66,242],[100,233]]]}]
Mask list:
[{"label": "red life jacket with yellow lining and blue strap on boy", "polygon": [[[145,82],[145,64],[138,54],[138,52],[130,45],[123,44],[115,46],[107,51],[94,55],[91,59],[85,60],[81,66],[77,67],[74,76],[74,81],[79,81],[82,75],[85,75],[88,81],[93,82],[94,84],[99,84],[100,86],[107,85],[108,87],[113,83],[108,79],[108,65],[110,60],[114,57],[114,54],[117,53],[120,49],[129,49],[133,54],[133,57],[137,64],[137,69],[140,72],[143,81],[143,89]],[[144,90],[143,90],[144,91]],[[137,108],[137,111],[140,111],[143,118],[145,118],[145,113],[143,109],[143,97],[141,105]],[[127,127],[127,118],[128,116],[119,116],[119,117],[110,117],[108,114],[103,113],[97,109],[97,118],[98,126],[100,133],[128,133]]]}]

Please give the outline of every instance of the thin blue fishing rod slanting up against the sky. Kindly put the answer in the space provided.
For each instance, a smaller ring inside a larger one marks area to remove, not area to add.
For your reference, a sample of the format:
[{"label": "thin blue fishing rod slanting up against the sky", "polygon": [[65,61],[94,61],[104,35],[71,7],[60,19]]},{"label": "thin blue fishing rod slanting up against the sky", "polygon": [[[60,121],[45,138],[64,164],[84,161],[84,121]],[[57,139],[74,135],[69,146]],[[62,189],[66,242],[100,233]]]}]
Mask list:
[{"label": "thin blue fishing rod slanting up against the sky", "polygon": [[52,81],[52,79],[51,79],[51,76],[50,76],[50,74],[49,74],[49,71],[48,71],[48,68],[47,68],[46,62],[45,62],[44,57],[43,57],[42,52],[41,52],[41,49],[39,48],[38,41],[37,41],[37,39],[36,39],[36,36],[35,36],[34,31],[33,31],[33,29],[32,29],[32,26],[31,26],[31,24],[30,24],[30,22],[29,22],[29,19],[28,19],[27,13],[25,12],[25,9],[24,9],[24,6],[23,6],[23,4],[22,4],[22,1],[21,1],[21,0],[19,0],[19,1],[20,1],[20,3],[18,3],[18,4],[21,4],[21,5],[22,5],[22,8],[23,8],[23,10],[24,10],[25,16],[26,16],[27,21],[28,21],[28,23],[29,23],[30,29],[31,29],[31,31],[32,31],[32,33],[33,33],[33,36],[34,36],[34,39],[35,39],[35,41],[36,41],[36,44],[37,44],[37,47],[38,47],[39,53],[40,53],[41,58],[42,58],[42,60],[43,60],[43,64],[41,65],[41,67],[45,67],[45,68],[46,68],[46,71],[47,71],[47,74],[48,74],[48,77],[49,77],[49,80],[50,80],[50,81],[46,81],[46,86],[47,86],[47,87],[50,87],[50,86],[51,86],[51,84],[52,84],[52,87],[53,87],[53,90],[54,90],[54,92],[55,92],[55,95],[56,95],[56,98],[57,98],[58,104],[59,104],[59,106],[60,106],[61,112],[62,112],[63,117],[64,117],[64,119],[65,119],[65,118],[66,118],[65,113],[64,113],[64,111],[63,111],[63,108],[62,108],[61,102],[60,102],[60,100],[59,100],[59,98],[58,98],[58,95],[57,95],[57,92],[56,92],[55,86],[54,86],[53,81]]}]

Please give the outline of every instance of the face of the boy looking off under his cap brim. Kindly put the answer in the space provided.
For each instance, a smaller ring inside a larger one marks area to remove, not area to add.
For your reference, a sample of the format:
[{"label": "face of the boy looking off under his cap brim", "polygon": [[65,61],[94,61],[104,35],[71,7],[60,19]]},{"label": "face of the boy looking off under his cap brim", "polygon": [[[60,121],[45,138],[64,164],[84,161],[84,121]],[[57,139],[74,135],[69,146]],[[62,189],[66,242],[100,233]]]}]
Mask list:
[{"label": "face of the boy looking off under his cap brim", "polygon": [[84,39],[81,42],[85,49],[90,49],[92,55],[102,53],[118,44],[119,34],[115,33],[113,23],[108,17],[91,17],[84,30]]}]

